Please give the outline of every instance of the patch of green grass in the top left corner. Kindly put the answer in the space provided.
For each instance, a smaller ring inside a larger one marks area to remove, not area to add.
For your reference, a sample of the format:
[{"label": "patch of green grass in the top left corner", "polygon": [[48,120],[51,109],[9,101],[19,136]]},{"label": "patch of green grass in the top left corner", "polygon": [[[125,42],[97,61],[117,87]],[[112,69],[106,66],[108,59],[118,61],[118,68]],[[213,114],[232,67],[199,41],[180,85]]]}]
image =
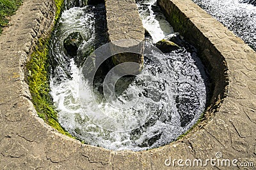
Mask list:
[{"label": "patch of green grass in the top left corner", "polygon": [[6,27],[9,18],[15,14],[22,0],[0,0],[0,34],[3,32],[3,27]]}]

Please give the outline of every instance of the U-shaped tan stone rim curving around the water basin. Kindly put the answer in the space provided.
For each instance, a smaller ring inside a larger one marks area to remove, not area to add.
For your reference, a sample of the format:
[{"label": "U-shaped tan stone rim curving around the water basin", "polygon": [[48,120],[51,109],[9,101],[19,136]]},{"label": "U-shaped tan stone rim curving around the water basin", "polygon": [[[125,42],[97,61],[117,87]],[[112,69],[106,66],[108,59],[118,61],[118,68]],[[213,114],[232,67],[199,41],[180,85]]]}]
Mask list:
[{"label": "U-shaped tan stone rim curving around the water basin", "polygon": [[[12,17],[13,25],[4,30],[0,39],[0,169],[181,169],[177,162],[175,167],[165,166],[164,162],[170,157],[211,159],[216,152],[221,152],[223,159],[256,163],[256,53],[190,0],[163,3],[166,11],[175,8],[179,15],[186,16],[189,22],[184,26],[191,32],[202,32],[195,36],[199,46],[205,45],[201,36],[209,39],[212,49],[221,53],[220,68],[226,64],[227,70],[220,73],[228,78],[227,97],[219,108],[210,110],[214,111],[211,120],[180,141],[145,152],[113,152],[83,145],[56,132],[37,117],[24,81],[31,48],[37,38],[51,30],[54,3],[24,0]],[[206,169],[217,169],[208,165]],[[229,168],[239,169],[218,167]]]}]

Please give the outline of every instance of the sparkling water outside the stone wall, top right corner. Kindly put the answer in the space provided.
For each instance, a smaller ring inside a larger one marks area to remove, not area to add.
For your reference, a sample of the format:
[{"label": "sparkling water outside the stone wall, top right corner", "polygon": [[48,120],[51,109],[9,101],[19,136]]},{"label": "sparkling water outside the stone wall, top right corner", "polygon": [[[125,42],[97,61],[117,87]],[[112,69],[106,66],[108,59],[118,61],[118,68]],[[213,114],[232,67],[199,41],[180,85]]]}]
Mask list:
[{"label": "sparkling water outside the stone wall, top right corner", "polygon": [[243,0],[193,0],[256,50],[256,6]]}]

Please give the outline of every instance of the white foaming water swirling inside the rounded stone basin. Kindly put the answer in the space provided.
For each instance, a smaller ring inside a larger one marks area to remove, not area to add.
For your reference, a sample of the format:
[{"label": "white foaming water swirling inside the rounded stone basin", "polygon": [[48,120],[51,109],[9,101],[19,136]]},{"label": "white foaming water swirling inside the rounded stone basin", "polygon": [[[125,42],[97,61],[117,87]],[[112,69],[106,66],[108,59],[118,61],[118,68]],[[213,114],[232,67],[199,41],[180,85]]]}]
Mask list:
[{"label": "white foaming water swirling inside the rounded stone basin", "polygon": [[[156,1],[140,1],[138,7],[143,25],[152,37],[148,37],[152,40],[150,42],[156,43],[175,35]],[[68,57],[63,48],[63,39],[71,32],[80,32],[84,39],[78,56],[74,58]],[[103,4],[63,11],[51,43],[51,95],[58,120],[70,134],[85,143],[110,150],[139,151],[166,145],[196,123],[205,109],[207,76],[193,46],[170,53],[152,50],[145,57],[141,74],[123,77],[116,82],[118,101],[108,103],[99,90],[102,83],[96,81],[96,90],[92,91],[81,74],[88,49],[104,43],[106,21]],[[146,44],[145,48],[150,46],[152,44]],[[153,58],[159,62],[154,62]],[[83,94],[79,90],[81,87]],[[99,98],[96,102],[95,96]],[[136,104],[132,108],[115,107],[115,104],[125,104],[127,99],[133,98]],[[129,131],[111,131],[118,122],[108,122],[103,118],[95,122],[88,116],[88,113],[97,115],[98,111],[116,120],[134,117],[144,122],[136,126],[128,122]],[[105,128],[101,124],[106,125]]]}]

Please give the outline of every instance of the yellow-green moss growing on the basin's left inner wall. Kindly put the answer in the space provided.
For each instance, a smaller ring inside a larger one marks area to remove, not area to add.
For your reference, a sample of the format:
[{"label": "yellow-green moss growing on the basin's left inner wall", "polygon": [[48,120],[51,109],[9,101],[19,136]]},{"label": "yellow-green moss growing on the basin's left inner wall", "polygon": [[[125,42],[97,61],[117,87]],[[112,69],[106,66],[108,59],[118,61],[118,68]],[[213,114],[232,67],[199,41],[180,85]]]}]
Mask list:
[{"label": "yellow-green moss growing on the basin's left inner wall", "polygon": [[[55,0],[55,3],[56,23],[56,20],[60,17],[63,0]],[[27,64],[29,90],[38,116],[62,134],[72,137],[59,124],[58,113],[51,99],[49,84],[49,40],[50,37],[45,39],[40,38],[38,40],[31,54],[31,59]]]}]

